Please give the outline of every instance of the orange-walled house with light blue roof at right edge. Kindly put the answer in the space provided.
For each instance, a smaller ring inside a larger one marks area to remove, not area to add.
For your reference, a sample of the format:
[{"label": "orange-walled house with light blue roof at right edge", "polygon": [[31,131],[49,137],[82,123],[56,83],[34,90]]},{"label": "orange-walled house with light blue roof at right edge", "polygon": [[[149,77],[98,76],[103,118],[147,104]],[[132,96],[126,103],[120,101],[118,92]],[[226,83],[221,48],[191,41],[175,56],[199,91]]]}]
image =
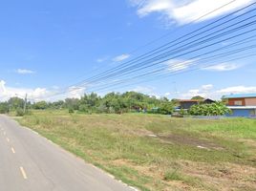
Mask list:
[{"label": "orange-walled house with light blue roof at right edge", "polygon": [[256,117],[256,94],[224,96],[226,106],[232,111],[230,117]]}]

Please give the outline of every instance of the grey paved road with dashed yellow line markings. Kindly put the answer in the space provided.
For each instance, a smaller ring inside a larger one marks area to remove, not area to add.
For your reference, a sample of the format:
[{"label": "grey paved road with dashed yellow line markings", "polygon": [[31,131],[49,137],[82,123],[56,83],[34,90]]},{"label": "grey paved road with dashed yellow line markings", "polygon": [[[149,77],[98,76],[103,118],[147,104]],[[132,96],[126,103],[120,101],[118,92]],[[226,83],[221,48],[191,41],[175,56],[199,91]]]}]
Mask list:
[{"label": "grey paved road with dashed yellow line markings", "polygon": [[133,191],[9,117],[0,116],[0,191]]}]

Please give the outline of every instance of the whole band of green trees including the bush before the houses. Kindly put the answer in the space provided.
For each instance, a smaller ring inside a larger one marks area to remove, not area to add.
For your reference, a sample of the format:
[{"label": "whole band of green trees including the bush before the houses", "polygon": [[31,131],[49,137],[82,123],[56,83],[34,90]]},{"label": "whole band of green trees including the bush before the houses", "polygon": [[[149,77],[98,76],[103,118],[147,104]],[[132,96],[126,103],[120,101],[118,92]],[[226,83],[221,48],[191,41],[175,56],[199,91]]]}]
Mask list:
[{"label": "whole band of green trees including the bush before the houses", "polygon": [[[192,97],[199,100],[199,96]],[[203,97],[200,97],[202,100]],[[11,97],[8,101],[0,102],[0,114],[15,112],[16,116],[30,114],[32,110],[66,109],[69,113],[83,114],[124,114],[124,113],[147,113],[172,115],[175,107],[179,105],[177,99],[169,100],[166,97],[147,96],[137,92],[126,92],[124,94],[110,93],[105,96],[98,96],[96,93],[85,94],[80,98],[66,98],[58,101],[27,102],[24,110],[25,100],[19,97]],[[24,113],[24,111],[26,111]],[[223,116],[230,113],[223,102],[192,106],[189,110],[176,115],[191,116]]]}]

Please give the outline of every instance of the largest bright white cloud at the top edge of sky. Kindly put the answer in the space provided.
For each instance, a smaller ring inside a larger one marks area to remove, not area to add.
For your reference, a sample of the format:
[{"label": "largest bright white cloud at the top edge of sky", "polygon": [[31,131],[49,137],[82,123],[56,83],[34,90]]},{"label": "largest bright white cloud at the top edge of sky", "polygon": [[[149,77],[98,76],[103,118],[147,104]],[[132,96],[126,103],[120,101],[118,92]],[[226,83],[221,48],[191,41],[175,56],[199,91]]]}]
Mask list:
[{"label": "largest bright white cloud at the top edge of sky", "polygon": [[[252,1],[237,0],[223,9],[203,17],[201,21],[237,10]],[[185,24],[224,6],[230,0],[130,0],[130,2],[133,6],[138,7],[140,17],[159,12],[169,21]]]}]

